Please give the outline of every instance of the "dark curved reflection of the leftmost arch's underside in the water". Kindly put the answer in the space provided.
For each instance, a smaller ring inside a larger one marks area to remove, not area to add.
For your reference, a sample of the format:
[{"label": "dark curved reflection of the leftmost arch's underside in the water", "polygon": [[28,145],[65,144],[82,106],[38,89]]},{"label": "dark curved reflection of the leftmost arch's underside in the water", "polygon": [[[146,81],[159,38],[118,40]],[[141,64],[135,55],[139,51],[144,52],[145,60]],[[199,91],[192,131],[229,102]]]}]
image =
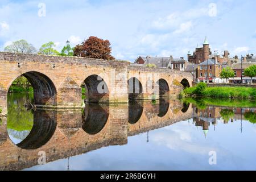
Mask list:
[{"label": "dark curved reflection of the leftmost arch's underside in the water", "polygon": [[35,110],[34,111],[34,125],[30,131],[30,134],[22,140],[22,142],[16,144],[16,146],[32,150],[42,147],[51,139],[56,129],[56,112]]}]

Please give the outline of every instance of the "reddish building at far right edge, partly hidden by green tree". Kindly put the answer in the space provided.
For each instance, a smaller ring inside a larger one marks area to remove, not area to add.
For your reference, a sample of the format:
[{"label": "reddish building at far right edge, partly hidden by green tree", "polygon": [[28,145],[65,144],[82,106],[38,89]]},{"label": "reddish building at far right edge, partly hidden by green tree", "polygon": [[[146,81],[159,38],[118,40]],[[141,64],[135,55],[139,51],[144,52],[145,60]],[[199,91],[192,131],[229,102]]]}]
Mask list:
[{"label": "reddish building at far right edge, partly hidden by green tree", "polygon": [[[241,84],[241,82],[243,84],[247,84],[247,83],[251,82],[251,78],[246,77],[244,75],[244,71],[246,68],[249,68],[251,65],[255,65],[255,64],[256,64],[256,62],[248,63],[246,61],[243,61],[242,64],[241,64],[241,61],[240,61],[240,63],[232,64],[231,68],[233,69],[235,76],[234,76],[234,78],[229,78],[229,82],[234,83],[234,84]],[[256,82],[256,77],[253,77],[253,82],[254,83]]]}]

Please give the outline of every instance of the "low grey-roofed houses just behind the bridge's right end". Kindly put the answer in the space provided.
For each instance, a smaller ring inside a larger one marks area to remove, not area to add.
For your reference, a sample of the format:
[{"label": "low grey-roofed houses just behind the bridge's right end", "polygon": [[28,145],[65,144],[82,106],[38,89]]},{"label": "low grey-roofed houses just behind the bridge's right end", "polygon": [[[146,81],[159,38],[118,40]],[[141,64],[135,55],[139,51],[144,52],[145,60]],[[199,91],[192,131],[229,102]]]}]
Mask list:
[{"label": "low grey-roofed houses just behind the bridge's right end", "polygon": [[188,63],[187,60],[184,60],[184,57],[174,58],[170,57],[143,57],[139,56],[135,60],[135,64],[141,65],[146,67],[148,64],[156,65],[156,68],[169,68],[169,69],[176,69],[179,71],[185,71],[185,67],[187,67]]}]

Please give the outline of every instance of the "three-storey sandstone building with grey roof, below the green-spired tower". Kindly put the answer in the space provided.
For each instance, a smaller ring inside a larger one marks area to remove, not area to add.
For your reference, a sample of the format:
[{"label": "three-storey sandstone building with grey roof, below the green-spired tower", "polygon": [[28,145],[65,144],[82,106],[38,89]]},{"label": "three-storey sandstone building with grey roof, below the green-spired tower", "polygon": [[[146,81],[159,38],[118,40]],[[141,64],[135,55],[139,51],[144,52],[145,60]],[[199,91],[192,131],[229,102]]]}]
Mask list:
[{"label": "three-storey sandstone building with grey roof, below the green-spired tower", "polygon": [[216,59],[208,59],[197,65],[197,82],[224,82],[221,71],[222,65]]}]

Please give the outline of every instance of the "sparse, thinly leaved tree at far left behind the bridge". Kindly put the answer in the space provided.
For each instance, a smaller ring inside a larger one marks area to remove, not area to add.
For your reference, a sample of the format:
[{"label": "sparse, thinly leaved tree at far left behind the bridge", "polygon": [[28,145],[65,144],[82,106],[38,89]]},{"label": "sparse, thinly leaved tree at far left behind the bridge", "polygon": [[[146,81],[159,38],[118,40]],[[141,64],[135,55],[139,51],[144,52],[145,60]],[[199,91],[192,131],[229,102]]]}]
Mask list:
[{"label": "sparse, thinly leaved tree at far left behind the bridge", "polygon": [[22,39],[13,42],[10,46],[6,46],[5,51],[13,53],[36,53],[36,48]]}]

